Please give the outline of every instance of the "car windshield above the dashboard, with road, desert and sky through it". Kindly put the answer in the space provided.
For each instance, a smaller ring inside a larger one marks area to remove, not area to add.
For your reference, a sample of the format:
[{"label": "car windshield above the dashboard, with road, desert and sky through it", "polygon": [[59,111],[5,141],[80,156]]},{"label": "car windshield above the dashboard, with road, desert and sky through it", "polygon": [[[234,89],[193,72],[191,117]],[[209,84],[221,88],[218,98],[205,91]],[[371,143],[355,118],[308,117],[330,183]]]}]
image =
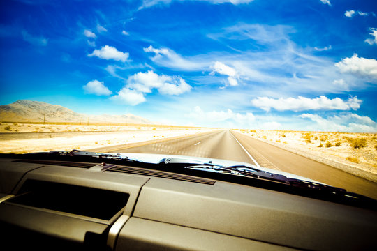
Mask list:
[{"label": "car windshield above the dashboard, with road, desert and sky through it", "polygon": [[377,199],[376,7],[1,1],[0,153],[232,160]]}]

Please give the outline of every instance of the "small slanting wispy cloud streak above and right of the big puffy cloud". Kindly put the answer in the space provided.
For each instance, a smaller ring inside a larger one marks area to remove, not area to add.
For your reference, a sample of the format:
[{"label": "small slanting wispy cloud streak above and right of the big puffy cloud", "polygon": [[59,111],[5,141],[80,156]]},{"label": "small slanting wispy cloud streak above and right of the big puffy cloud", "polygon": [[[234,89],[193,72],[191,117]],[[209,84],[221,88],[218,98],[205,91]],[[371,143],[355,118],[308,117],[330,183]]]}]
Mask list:
[{"label": "small slanting wispy cloud streak above and right of the big puffy cloud", "polygon": [[151,57],[151,60],[161,66],[179,70],[201,70],[207,67],[206,63],[185,59],[168,48],[156,49],[150,45],[144,48],[144,51],[153,52],[154,56]]}]

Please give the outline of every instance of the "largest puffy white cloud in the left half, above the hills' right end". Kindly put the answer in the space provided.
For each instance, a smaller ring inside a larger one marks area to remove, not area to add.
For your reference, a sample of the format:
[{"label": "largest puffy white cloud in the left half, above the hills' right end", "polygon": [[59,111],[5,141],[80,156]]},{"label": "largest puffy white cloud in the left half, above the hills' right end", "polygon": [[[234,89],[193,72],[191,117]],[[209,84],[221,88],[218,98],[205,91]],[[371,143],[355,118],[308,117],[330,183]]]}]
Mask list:
[{"label": "largest puffy white cloud in the left half, above the hills' right end", "polygon": [[[108,70],[114,71],[114,68],[110,67]],[[145,93],[151,93],[152,89],[157,89],[163,95],[180,95],[191,90],[191,86],[182,77],[158,75],[152,70],[135,73],[126,82],[124,88],[111,97],[112,100],[138,105],[146,101]]]}]

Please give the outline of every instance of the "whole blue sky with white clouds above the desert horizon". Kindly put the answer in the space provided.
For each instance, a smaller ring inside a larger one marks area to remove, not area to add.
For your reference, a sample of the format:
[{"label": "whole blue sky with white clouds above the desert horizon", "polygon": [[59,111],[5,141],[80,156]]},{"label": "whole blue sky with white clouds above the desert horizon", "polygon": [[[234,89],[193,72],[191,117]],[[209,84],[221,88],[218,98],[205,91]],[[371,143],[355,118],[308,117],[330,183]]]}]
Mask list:
[{"label": "whole blue sky with white clouds above the desert horizon", "polygon": [[377,130],[376,1],[1,1],[0,45],[0,105]]}]

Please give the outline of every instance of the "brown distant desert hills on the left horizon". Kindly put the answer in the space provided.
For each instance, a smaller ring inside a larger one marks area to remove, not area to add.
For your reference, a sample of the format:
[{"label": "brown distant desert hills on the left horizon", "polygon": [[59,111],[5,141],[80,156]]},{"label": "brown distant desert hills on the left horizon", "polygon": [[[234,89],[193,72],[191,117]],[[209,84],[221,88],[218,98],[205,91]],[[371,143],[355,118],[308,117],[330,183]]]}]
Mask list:
[{"label": "brown distant desert hills on the left horizon", "polygon": [[87,115],[73,112],[61,105],[46,102],[17,100],[9,105],[0,105],[0,121],[12,122],[82,122],[86,123],[135,123],[150,124],[151,121],[133,114],[122,115]]}]

